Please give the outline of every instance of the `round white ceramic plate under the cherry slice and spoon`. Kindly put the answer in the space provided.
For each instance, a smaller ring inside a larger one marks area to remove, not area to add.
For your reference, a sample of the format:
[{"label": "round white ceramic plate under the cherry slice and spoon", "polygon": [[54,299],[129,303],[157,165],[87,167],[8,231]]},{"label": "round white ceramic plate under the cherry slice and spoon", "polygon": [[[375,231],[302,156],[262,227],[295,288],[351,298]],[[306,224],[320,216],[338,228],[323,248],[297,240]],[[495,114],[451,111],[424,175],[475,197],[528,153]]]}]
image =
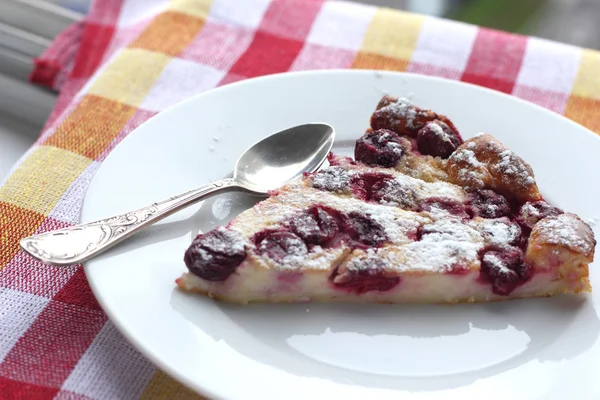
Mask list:
[{"label": "round white ceramic plate under the cherry slice and spoon", "polygon": [[[323,71],[232,84],[161,113],[103,163],[83,221],[227,176],[246,147],[292,125],[328,122],[337,130],[334,150],[350,154],[384,93],[450,116],[465,138],[495,135],[532,164],[548,199],[598,219],[600,140],[581,126],[459,82]],[[86,265],[119,329],[186,385],[244,400],[600,398],[598,294],[489,305],[235,307],[176,290],[192,237],[255,200],[205,201]]]}]

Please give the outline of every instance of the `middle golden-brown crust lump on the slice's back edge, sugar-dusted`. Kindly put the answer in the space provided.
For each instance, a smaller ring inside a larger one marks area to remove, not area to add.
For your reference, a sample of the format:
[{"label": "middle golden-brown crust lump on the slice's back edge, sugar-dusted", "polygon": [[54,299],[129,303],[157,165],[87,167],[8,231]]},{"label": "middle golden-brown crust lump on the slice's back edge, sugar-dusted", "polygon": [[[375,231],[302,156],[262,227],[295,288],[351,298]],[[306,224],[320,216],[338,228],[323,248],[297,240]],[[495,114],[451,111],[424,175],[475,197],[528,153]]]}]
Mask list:
[{"label": "middle golden-brown crust lump on the slice's back edge, sugar-dusted", "polygon": [[520,203],[542,200],[531,166],[488,134],[464,142],[447,164],[452,183],[492,189]]}]

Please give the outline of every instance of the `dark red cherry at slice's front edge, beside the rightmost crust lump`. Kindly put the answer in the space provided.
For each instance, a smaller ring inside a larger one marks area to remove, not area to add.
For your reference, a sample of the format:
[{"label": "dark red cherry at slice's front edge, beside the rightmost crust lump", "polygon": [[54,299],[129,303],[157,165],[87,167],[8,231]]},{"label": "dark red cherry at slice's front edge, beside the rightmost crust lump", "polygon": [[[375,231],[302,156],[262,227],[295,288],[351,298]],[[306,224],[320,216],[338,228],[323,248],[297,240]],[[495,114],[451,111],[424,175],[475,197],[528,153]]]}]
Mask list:
[{"label": "dark red cherry at slice's front edge, beside the rightmost crust lump", "polygon": [[491,248],[480,256],[481,276],[496,294],[507,296],[531,277],[531,267],[523,261],[519,248]]}]

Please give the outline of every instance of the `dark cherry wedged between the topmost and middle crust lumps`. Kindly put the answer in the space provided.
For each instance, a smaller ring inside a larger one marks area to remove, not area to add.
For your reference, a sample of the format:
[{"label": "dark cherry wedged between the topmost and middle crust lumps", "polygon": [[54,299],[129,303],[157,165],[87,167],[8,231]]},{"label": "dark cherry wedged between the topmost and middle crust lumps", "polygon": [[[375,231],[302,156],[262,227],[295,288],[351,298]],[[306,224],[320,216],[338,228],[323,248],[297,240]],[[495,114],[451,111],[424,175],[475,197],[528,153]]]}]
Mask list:
[{"label": "dark cherry wedged between the topmost and middle crust lumps", "polygon": [[459,136],[440,120],[425,124],[417,134],[417,148],[421,154],[448,158],[460,146]]}]

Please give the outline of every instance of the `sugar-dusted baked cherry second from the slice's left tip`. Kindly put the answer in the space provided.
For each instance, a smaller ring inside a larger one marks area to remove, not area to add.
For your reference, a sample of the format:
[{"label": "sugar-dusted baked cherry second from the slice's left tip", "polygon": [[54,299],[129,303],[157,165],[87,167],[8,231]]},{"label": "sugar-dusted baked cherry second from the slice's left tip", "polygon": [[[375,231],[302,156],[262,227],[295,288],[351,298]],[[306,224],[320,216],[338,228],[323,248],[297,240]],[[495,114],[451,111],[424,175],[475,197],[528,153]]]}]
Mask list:
[{"label": "sugar-dusted baked cherry second from the slice's left tip", "polygon": [[285,230],[265,230],[254,236],[259,254],[266,255],[276,262],[285,263],[294,257],[308,253],[306,244],[296,234]]}]

